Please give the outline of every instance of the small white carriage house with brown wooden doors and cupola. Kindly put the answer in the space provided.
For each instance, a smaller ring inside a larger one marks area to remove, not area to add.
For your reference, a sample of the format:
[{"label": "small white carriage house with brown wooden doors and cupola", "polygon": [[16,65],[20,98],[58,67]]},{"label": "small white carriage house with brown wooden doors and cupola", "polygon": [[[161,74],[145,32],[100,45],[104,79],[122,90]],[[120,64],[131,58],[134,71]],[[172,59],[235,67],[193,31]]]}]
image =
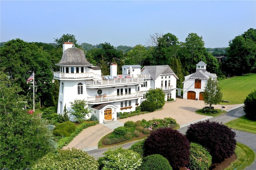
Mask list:
[{"label": "small white carriage house with brown wooden doors and cupola", "polygon": [[192,100],[204,100],[202,94],[207,80],[212,77],[217,78],[216,74],[206,71],[206,64],[200,61],[196,64],[196,72],[185,76],[183,83],[183,98]]}]

